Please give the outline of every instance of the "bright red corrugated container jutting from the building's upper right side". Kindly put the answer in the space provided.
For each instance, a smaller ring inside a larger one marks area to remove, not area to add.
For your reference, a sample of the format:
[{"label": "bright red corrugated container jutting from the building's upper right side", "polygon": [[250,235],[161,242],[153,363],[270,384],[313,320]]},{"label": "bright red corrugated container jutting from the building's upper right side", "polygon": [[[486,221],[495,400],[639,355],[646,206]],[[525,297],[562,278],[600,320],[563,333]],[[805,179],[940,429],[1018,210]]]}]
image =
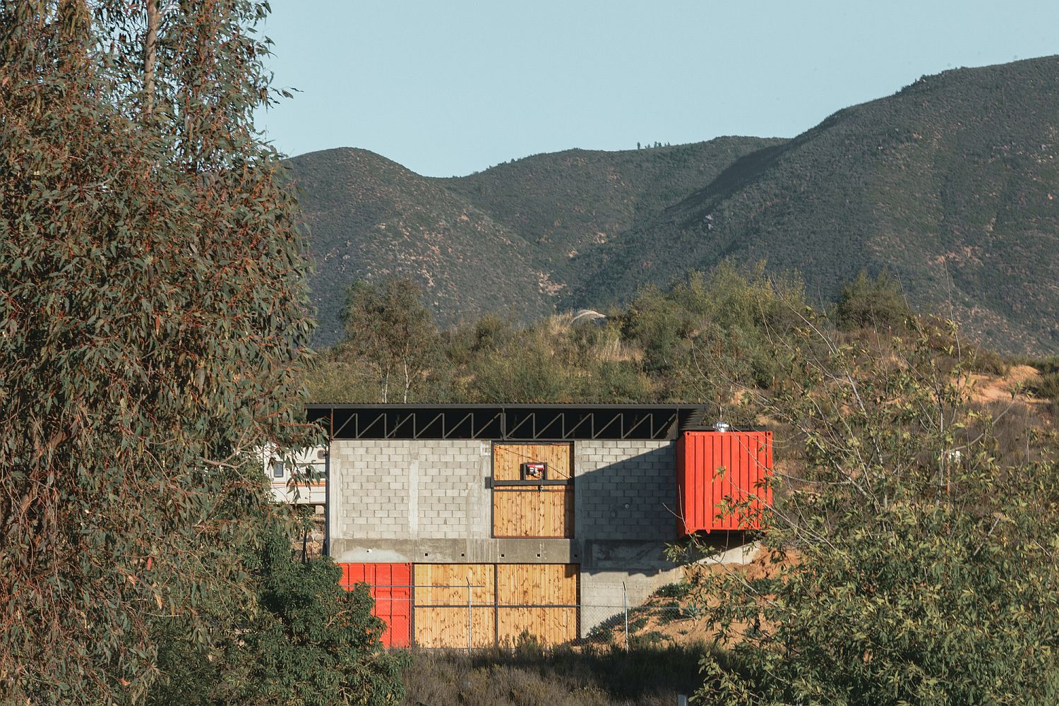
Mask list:
[{"label": "bright red corrugated container jutting from the building's upper right side", "polygon": [[[772,432],[684,432],[677,439],[677,529],[758,529],[760,511],[772,504]],[[724,512],[723,506],[747,503]],[[718,507],[722,506],[722,507]]]}]

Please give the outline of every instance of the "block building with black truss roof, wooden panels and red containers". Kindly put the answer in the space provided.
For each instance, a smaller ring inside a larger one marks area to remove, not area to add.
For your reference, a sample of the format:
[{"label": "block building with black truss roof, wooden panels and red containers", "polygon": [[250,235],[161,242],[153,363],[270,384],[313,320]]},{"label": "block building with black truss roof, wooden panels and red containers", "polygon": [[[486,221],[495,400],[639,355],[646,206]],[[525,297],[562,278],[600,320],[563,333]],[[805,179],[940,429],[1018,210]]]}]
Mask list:
[{"label": "block building with black truss roof, wooden panels and red containers", "polygon": [[[325,551],[344,584],[372,585],[392,647],[585,637],[680,578],[665,550],[683,533],[746,527],[715,506],[740,492],[756,499],[772,463],[770,434],[701,431],[694,405],[307,413],[329,438]],[[710,435],[728,446],[685,443]]]}]

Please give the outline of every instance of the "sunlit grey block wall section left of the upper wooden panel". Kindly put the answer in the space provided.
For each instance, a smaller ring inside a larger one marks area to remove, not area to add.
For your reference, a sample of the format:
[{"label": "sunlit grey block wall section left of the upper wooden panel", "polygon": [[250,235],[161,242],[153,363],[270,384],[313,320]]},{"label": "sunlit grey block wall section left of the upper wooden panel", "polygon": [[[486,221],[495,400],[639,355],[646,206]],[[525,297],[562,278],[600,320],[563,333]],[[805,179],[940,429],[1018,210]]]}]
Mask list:
[{"label": "sunlit grey block wall section left of the upper wooden panel", "polygon": [[465,440],[333,441],[334,537],[488,538],[488,450]]}]

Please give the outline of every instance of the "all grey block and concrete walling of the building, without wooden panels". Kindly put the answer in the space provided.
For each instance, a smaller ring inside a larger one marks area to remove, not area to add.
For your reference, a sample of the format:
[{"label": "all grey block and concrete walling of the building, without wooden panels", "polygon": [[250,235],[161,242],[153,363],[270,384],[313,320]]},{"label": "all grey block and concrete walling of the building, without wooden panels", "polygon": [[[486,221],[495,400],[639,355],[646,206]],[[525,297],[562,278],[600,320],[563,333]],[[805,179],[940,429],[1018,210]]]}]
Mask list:
[{"label": "all grey block and concrete walling of the building, without wooden panels", "polygon": [[[333,441],[339,561],[578,563],[580,633],[680,578],[672,441],[575,441],[574,539],[491,539],[491,447],[481,440]],[[598,608],[597,608],[598,607]]]}]

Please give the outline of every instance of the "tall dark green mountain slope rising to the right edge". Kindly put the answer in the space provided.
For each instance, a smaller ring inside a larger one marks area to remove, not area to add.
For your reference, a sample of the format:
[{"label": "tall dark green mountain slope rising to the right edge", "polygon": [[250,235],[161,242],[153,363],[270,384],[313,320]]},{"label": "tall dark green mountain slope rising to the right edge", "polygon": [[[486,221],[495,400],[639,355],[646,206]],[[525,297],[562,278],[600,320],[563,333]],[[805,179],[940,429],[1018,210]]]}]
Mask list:
[{"label": "tall dark green mountain slope rising to the right edge", "polygon": [[892,270],[1004,350],[1059,349],[1059,57],[921,78],[726,169],[593,255],[567,304],[721,258],[797,269],[830,300]]}]

